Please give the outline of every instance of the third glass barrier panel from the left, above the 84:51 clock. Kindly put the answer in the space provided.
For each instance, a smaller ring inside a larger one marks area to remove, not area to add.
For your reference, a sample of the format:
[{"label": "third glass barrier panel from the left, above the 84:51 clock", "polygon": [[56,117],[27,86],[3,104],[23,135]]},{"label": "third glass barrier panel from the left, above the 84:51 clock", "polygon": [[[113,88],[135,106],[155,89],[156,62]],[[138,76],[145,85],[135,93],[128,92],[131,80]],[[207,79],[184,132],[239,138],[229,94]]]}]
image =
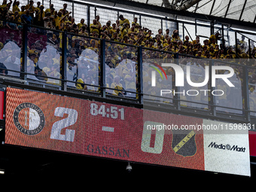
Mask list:
[{"label": "third glass barrier panel from the left, above the 84:51 clock", "polygon": [[99,92],[99,40],[69,33],[67,40],[67,86]]}]

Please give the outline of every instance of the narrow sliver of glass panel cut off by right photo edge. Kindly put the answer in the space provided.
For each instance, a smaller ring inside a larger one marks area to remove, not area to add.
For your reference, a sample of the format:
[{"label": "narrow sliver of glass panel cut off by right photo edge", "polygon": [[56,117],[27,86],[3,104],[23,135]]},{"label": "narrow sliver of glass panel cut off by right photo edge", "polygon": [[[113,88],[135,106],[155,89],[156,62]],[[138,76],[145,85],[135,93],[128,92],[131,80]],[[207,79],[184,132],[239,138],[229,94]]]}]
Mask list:
[{"label": "narrow sliver of glass panel cut off by right photo edge", "polygon": [[256,117],[256,68],[248,67],[248,98],[251,116]]}]

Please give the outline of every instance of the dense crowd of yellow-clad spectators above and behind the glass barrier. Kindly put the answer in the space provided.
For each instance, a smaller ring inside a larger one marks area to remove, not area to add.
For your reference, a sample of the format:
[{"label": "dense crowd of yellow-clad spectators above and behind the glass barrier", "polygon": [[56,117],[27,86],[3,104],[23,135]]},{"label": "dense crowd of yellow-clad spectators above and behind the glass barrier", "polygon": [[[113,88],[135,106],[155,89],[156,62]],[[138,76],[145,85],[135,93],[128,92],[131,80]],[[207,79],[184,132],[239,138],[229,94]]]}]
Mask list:
[{"label": "dense crowd of yellow-clad spectators above and behind the glass barrier", "polygon": [[[145,92],[151,95],[154,95],[156,88],[148,86],[151,82],[148,77],[152,70],[148,66],[150,66],[150,63],[157,62],[157,59],[173,59],[175,58],[175,53],[179,53],[181,64],[187,65],[187,63],[190,63],[190,65],[200,66],[198,67],[200,72],[202,72],[201,67],[209,65],[209,62],[202,62],[199,59],[229,59],[229,62],[252,67],[256,66],[256,62],[254,62],[256,48],[249,50],[244,37],[242,37],[242,40],[237,40],[238,47],[226,47],[224,44],[218,44],[220,42],[218,40],[222,38],[219,32],[204,39],[203,44],[201,44],[202,41],[200,41],[199,36],[196,39],[190,39],[185,36],[184,41],[182,41],[176,29],[172,32],[169,29],[166,29],[165,32],[163,32],[163,29],[159,29],[158,33],[154,35],[151,29],[139,25],[138,18],[134,17],[131,22],[123,15],[120,15],[117,20],[108,20],[107,23],[101,23],[100,17],[97,15],[93,23],[87,26],[84,19],[81,19],[80,23],[75,21],[69,9],[71,8],[68,8],[67,4],[63,4],[63,8],[56,10],[53,4],[49,8],[44,8],[41,2],[37,2],[35,5],[32,0],[29,1],[28,5],[21,7],[20,2],[17,0],[14,0],[14,2],[3,0],[0,6],[0,18],[6,20],[1,22],[1,25],[5,26],[7,34],[14,35],[14,32],[10,31],[22,29],[23,26],[18,23],[27,23],[44,28],[35,29],[29,27],[27,71],[37,75],[34,77],[29,75],[32,79],[46,81],[48,84],[61,84],[61,81],[57,79],[61,78],[62,70],[62,33],[51,29],[66,30],[68,32],[68,86],[76,87],[80,90],[99,92],[99,88],[96,86],[99,86],[100,38],[108,40],[105,42],[105,73],[106,87],[111,89],[106,90],[106,92],[117,96],[138,97],[135,94],[138,88],[138,49],[136,46],[145,47],[142,49],[142,58],[145,66],[144,87],[148,87]],[[19,38],[22,39],[21,33],[19,34]],[[10,69],[11,57],[15,56],[15,63],[18,63],[17,59],[20,59],[20,64],[22,63],[22,58],[17,53],[18,48],[13,42],[16,42],[18,47],[21,47],[22,44],[17,42],[18,40],[15,41],[14,38],[11,41],[6,39],[0,43],[2,48],[0,62],[2,63],[2,68]],[[8,52],[8,50],[10,51]],[[250,59],[249,51],[251,51]],[[12,52],[15,54],[12,54]],[[191,59],[187,60],[189,56],[195,56],[197,59],[193,59],[192,62]],[[9,64],[6,64],[7,61]],[[15,67],[16,70],[17,66]],[[13,68],[11,67],[11,69]],[[171,75],[170,79],[174,80],[172,69],[164,68],[164,70],[167,75]],[[242,84],[243,73],[236,66],[235,71],[238,81]],[[5,73],[8,72],[5,71]],[[197,74],[197,72],[195,73]],[[11,72],[9,71],[8,75],[10,74]],[[200,81],[197,76],[195,76],[194,81]],[[249,90],[251,93],[254,93],[255,83],[255,70],[251,68],[249,70]],[[172,87],[170,82],[166,85],[162,84],[162,87],[167,85]]]}]

